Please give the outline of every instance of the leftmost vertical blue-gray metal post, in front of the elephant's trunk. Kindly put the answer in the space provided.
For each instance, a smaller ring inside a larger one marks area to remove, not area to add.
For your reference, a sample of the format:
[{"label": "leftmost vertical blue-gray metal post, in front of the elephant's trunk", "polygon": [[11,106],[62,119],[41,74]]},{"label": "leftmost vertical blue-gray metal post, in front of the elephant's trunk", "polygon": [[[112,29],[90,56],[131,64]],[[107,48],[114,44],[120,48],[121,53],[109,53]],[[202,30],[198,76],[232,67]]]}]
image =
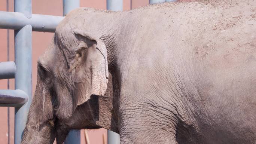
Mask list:
[{"label": "leftmost vertical blue-gray metal post, in front of the elephant's trunk", "polygon": [[[31,18],[31,0],[14,0],[14,12],[24,13]],[[20,30],[15,30],[15,89],[27,93],[28,102],[22,107],[15,108],[14,143],[20,144],[22,134],[27,122],[28,110],[32,95],[32,27],[26,25]]]}]

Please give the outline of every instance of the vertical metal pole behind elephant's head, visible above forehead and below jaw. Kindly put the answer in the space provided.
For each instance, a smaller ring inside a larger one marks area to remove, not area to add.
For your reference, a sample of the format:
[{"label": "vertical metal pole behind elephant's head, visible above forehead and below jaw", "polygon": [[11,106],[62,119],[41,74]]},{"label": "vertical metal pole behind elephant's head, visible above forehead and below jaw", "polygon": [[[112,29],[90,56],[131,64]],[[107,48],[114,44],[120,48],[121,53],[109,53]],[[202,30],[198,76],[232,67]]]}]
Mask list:
[{"label": "vertical metal pole behind elephant's head, visible above forehead and below jaw", "polygon": [[[80,0],[63,0],[63,16],[66,16],[68,12],[80,7]],[[64,144],[80,144],[80,130],[71,130]]]}]

